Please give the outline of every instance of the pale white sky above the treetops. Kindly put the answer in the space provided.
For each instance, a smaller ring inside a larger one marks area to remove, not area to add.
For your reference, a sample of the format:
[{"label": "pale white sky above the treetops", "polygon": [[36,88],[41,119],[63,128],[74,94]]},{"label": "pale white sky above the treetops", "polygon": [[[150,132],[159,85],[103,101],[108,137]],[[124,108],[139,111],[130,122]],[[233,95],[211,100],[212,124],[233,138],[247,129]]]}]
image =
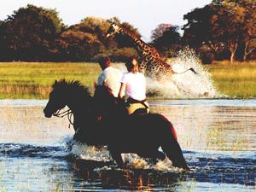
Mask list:
[{"label": "pale white sky above the treetops", "polygon": [[212,0],[1,0],[0,20],[7,19],[15,10],[33,4],[46,9],[56,9],[67,26],[78,24],[88,16],[110,19],[117,16],[127,21],[150,41],[152,30],[159,24],[183,26],[183,15],[202,8]]}]

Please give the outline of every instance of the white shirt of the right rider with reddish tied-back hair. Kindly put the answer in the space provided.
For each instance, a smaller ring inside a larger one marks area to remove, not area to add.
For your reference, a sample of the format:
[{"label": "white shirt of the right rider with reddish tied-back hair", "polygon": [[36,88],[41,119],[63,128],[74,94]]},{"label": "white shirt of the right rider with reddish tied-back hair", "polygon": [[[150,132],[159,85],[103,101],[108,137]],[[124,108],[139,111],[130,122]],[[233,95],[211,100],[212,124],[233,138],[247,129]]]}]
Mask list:
[{"label": "white shirt of the right rider with reddish tied-back hair", "polygon": [[146,99],[146,79],[143,73],[125,73],[121,83],[126,84],[126,96],[139,101]]}]

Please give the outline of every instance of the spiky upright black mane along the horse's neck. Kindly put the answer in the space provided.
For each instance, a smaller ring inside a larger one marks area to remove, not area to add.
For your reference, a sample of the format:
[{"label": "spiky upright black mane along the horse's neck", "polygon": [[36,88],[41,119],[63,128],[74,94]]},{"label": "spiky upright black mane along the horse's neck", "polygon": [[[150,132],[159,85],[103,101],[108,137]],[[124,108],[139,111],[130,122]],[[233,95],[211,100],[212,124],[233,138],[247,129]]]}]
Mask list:
[{"label": "spiky upright black mane along the horse's neck", "polygon": [[78,93],[79,95],[90,96],[90,91],[88,87],[85,87],[78,80],[66,80],[61,79],[59,81],[55,80],[55,83],[52,85],[53,90],[58,90],[63,94],[69,93],[69,90]]}]

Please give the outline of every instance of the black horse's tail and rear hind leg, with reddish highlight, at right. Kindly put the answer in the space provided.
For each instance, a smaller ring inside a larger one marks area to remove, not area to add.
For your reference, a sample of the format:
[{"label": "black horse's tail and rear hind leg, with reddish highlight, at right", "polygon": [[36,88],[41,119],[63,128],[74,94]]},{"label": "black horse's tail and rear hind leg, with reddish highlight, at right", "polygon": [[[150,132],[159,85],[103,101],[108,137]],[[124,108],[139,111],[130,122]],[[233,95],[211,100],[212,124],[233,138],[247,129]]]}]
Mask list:
[{"label": "black horse's tail and rear hind leg, with reddish highlight, at right", "polygon": [[177,135],[172,123],[168,123],[168,130],[166,130],[165,136],[162,139],[161,148],[167,157],[172,160],[172,166],[177,166],[185,170],[189,170],[186,160],[183,157],[182,149],[177,143]]}]

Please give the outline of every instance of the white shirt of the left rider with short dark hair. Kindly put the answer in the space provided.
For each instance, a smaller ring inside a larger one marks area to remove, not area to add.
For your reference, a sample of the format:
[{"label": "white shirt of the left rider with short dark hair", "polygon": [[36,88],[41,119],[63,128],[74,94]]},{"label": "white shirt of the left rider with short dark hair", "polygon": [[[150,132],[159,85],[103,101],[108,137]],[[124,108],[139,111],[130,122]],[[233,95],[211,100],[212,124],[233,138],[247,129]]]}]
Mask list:
[{"label": "white shirt of the left rider with short dark hair", "polygon": [[119,71],[119,69],[114,67],[105,68],[98,78],[98,85],[102,85],[103,82],[108,85],[108,87],[112,90],[113,96],[119,96],[120,89],[120,79],[122,78],[123,73]]}]

